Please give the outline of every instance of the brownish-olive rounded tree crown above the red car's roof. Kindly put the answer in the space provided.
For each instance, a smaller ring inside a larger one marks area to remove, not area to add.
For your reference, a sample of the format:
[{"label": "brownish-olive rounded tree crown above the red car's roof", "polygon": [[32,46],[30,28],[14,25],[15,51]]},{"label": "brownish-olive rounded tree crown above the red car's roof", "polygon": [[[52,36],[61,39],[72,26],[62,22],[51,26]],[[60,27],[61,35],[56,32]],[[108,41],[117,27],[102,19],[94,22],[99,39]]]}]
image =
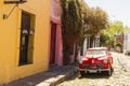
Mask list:
[{"label": "brownish-olive rounded tree crown above the red car's roof", "polygon": [[107,14],[101,8],[87,8],[84,14],[86,34],[90,34],[90,46],[92,47],[94,37],[107,27]]}]

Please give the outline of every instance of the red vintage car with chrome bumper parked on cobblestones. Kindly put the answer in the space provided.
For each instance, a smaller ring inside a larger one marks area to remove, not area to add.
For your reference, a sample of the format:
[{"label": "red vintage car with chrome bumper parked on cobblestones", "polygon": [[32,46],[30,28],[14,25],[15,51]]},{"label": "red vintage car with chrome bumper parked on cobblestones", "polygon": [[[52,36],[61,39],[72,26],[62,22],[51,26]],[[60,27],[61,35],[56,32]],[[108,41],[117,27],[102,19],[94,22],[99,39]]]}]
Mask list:
[{"label": "red vintage car with chrome bumper parked on cobblestones", "polygon": [[113,57],[106,47],[88,48],[84,56],[79,59],[78,70],[81,75],[84,73],[105,72],[110,75],[113,72]]}]

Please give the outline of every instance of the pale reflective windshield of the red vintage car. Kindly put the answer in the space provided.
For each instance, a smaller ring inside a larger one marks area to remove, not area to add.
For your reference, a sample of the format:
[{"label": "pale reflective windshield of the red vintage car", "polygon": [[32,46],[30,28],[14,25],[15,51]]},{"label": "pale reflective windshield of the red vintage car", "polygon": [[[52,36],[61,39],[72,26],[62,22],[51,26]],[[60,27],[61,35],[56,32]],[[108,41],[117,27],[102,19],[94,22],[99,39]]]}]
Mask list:
[{"label": "pale reflective windshield of the red vintage car", "polygon": [[88,51],[86,56],[105,56],[106,51],[104,49],[93,49],[93,51]]}]

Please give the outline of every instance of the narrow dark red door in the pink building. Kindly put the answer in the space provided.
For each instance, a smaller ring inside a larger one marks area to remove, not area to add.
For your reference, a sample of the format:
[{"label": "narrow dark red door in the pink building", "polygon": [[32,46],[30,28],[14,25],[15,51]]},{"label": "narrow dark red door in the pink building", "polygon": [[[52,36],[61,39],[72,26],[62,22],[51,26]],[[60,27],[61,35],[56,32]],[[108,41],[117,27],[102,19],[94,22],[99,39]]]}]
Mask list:
[{"label": "narrow dark red door in the pink building", "polygon": [[50,63],[55,63],[56,24],[51,23]]}]

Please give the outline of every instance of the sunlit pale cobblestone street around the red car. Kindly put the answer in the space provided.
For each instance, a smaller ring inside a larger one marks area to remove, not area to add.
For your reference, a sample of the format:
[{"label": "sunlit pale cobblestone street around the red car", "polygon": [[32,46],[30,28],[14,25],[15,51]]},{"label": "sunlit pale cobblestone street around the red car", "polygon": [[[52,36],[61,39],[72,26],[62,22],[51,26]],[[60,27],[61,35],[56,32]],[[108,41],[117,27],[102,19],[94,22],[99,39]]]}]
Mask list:
[{"label": "sunlit pale cobblestone street around the red car", "polygon": [[77,76],[57,86],[130,86],[130,57],[113,53],[114,72],[112,76],[105,74],[87,74]]}]

